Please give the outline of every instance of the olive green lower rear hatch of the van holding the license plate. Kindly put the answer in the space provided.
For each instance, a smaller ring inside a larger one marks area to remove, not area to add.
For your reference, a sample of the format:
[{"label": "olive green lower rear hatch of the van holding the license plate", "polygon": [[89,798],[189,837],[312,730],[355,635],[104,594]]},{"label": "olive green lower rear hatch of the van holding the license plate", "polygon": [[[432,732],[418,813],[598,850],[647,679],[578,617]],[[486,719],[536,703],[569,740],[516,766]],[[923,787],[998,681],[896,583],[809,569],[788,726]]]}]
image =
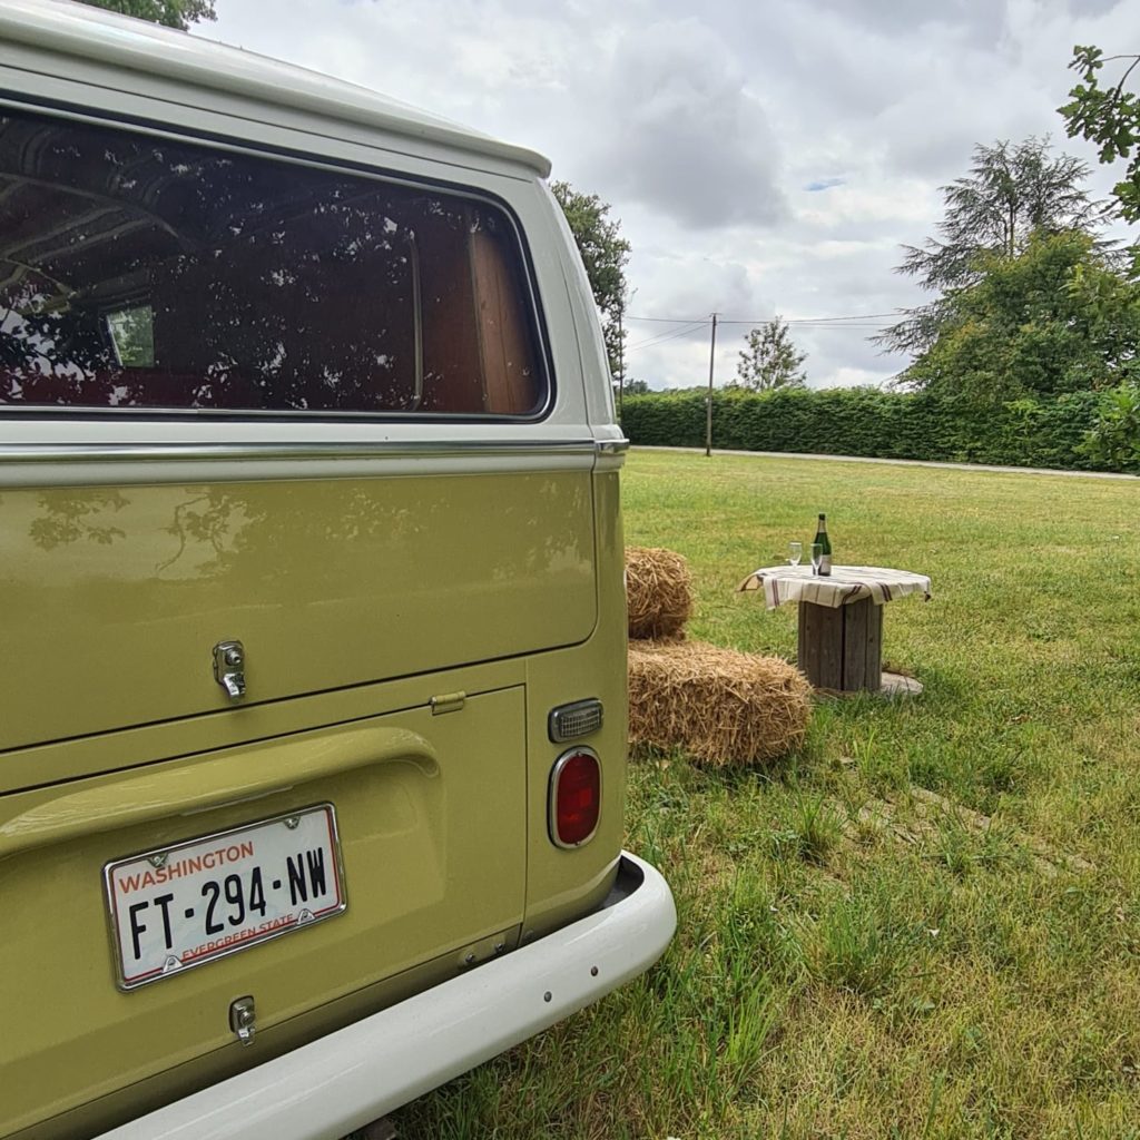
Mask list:
[{"label": "olive green lower rear hatch of the van holding the license plate", "polygon": [[[267,1059],[514,945],[523,723],[523,689],[507,685],[447,712],[365,717],[0,798],[0,1134],[46,1104],[113,1104],[195,1059],[203,1081]],[[494,819],[473,809],[488,788]],[[195,860],[207,864],[197,874]],[[291,909],[291,891],[301,921],[263,943],[251,935]],[[30,988],[43,1000],[26,1000]],[[239,999],[251,999],[249,1050],[231,1021]],[[49,1134],[71,1134],[66,1116]]]}]

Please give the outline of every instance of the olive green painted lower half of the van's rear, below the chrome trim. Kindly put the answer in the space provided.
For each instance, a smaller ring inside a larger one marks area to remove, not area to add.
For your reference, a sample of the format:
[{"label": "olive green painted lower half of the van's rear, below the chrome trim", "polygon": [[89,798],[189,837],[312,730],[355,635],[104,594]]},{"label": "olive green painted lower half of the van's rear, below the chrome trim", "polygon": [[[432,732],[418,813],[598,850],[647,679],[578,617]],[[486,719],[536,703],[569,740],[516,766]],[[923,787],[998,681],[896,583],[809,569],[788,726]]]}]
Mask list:
[{"label": "olive green painted lower half of the van's rear, below the chrome trim", "polygon": [[[591,738],[608,799],[569,852],[546,712],[624,707],[617,494],[588,472],[5,491],[0,1135],[90,1134],[249,1064],[246,993],[261,1061],[596,905],[625,724]],[[211,495],[217,545],[178,518]],[[82,529],[44,538],[64,518]],[[230,709],[210,648],[238,635],[274,697]],[[342,915],[116,987],[105,863],[323,803]]]}]

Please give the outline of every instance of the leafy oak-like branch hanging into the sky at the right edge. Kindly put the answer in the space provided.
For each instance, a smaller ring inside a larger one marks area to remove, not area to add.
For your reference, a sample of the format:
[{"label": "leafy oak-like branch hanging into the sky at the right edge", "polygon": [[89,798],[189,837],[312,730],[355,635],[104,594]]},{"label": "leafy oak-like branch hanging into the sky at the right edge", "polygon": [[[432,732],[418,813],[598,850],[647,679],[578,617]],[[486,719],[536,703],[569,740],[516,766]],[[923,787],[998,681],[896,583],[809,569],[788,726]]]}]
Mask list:
[{"label": "leafy oak-like branch hanging into the sky at the right edge", "polygon": [[[1102,88],[1098,72],[1106,63],[1129,62],[1114,87]],[[1100,161],[1126,160],[1124,178],[1113,187],[1121,214],[1127,221],[1140,221],[1140,95],[1126,91],[1124,84],[1140,64],[1140,56],[1105,56],[1100,48],[1073,49],[1069,68],[1080,72],[1081,82],[1069,91],[1072,103],[1057,109],[1065,117],[1069,138],[1080,135],[1100,147]]]}]

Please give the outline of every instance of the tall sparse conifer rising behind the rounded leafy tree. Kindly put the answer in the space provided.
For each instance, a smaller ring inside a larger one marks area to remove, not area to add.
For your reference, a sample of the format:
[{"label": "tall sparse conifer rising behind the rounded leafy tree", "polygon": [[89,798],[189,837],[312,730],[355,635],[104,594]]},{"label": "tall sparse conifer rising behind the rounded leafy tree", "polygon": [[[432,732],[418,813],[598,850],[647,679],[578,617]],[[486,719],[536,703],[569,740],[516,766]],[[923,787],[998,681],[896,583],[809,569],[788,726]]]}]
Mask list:
[{"label": "tall sparse conifer rising behind the rounded leafy tree", "polygon": [[1048,139],[975,147],[970,173],[942,188],[946,212],[939,236],[903,246],[897,268],[938,295],[885,328],[878,343],[891,352],[928,349],[950,318],[950,299],[977,284],[992,266],[991,254],[1013,258],[1033,234],[1096,233],[1104,206],[1083,189],[1088,174],[1077,158],[1053,157]]}]

